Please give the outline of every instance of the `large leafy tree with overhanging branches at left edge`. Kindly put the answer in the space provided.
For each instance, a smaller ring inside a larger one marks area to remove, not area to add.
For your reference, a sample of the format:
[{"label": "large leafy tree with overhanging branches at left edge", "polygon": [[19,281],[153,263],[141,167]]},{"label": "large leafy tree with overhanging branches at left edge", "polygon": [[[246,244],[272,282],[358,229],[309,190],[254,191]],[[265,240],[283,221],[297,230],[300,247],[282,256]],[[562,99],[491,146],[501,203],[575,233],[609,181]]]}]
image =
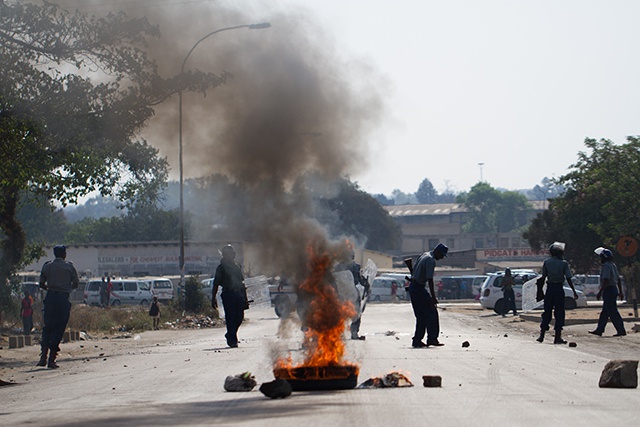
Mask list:
[{"label": "large leafy tree with overhanging branches at left edge", "polygon": [[226,75],[161,78],[143,50],[156,35],[124,13],[0,1],[0,286],[27,248],[16,217],[24,191],[63,206],[94,190],[132,202],[165,182],[166,160],[139,131],[170,95]]}]

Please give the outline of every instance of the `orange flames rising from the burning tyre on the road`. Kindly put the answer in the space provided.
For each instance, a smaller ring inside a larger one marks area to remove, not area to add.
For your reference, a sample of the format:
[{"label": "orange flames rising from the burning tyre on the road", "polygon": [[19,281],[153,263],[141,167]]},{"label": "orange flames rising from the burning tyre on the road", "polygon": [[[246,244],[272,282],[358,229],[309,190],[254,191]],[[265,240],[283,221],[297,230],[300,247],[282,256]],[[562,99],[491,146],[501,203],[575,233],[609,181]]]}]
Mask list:
[{"label": "orange flames rising from the burning tyre on the road", "polygon": [[285,359],[276,361],[274,371],[279,372],[280,376],[284,374],[289,378],[295,378],[294,372],[301,371],[306,372],[307,375],[315,372],[315,375],[311,375],[325,377],[328,372],[336,372],[335,369],[327,368],[349,366],[357,375],[357,365],[343,363],[346,346],[342,339],[345,322],[352,318],[356,311],[350,301],[340,300],[335,286],[331,283],[333,257],[326,251],[315,249],[312,245],[309,245],[307,252],[310,274],[300,285],[300,290],[311,296],[303,320],[307,326],[303,343],[306,349],[304,362],[293,366],[293,360],[289,355]]}]

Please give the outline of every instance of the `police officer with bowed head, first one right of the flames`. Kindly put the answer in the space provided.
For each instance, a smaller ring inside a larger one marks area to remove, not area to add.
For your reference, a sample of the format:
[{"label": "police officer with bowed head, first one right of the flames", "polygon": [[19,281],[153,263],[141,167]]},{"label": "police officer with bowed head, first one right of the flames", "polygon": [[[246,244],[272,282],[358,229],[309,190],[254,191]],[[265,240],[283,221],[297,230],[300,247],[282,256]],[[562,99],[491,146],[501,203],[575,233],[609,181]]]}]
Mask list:
[{"label": "police officer with bowed head, first one right of the flames", "polygon": [[[413,335],[412,346],[422,348],[428,346],[442,346],[438,341],[440,335],[440,319],[438,318],[438,300],[433,286],[433,274],[436,261],[447,256],[449,248],[439,243],[431,252],[420,255],[411,274],[409,295],[413,314],[416,316],[416,331]],[[429,290],[427,290],[427,284]],[[426,344],[422,341],[425,331],[427,333]]]}]

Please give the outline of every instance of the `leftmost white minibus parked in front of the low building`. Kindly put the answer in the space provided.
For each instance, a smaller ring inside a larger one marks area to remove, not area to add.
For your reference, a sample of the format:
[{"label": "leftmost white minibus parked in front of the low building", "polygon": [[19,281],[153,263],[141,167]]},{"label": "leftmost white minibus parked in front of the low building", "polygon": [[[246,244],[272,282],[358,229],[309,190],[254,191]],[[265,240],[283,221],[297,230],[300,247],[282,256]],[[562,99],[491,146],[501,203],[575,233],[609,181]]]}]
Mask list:
[{"label": "leftmost white minibus parked in front of the low building", "polygon": [[[121,304],[149,305],[153,294],[149,284],[135,279],[111,279],[113,288],[109,304],[117,307]],[[90,280],[84,288],[84,303],[100,305],[100,286],[102,279]]]}]

